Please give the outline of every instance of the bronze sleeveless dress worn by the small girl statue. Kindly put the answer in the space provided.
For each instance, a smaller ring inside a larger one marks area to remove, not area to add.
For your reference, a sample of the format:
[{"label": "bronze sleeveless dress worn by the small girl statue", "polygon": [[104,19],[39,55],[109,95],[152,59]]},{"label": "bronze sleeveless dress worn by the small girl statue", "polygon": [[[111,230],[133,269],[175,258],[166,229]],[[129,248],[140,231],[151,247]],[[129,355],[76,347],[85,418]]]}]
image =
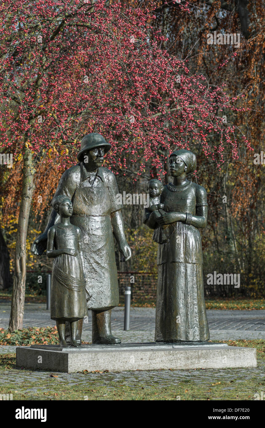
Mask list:
[{"label": "bronze sleeveless dress worn by the small girl statue", "polygon": [[[54,247],[77,250],[77,227],[54,226]],[[60,254],[54,258],[51,276],[51,319],[77,321],[87,315],[86,284],[82,262],[77,256]]]}]

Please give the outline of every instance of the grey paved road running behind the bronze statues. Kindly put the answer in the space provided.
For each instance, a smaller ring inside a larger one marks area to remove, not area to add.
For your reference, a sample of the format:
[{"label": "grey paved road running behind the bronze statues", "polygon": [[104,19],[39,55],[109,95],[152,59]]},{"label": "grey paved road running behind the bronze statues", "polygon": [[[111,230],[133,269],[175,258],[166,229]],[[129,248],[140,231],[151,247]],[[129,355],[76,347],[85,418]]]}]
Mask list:
[{"label": "grey paved road running behind the bronze statues", "polygon": [[[0,327],[9,324],[10,302],[0,300]],[[208,324],[212,340],[265,339],[265,310],[208,310]],[[112,331],[123,342],[153,342],[155,309],[131,308],[130,330],[123,330],[124,307],[112,310]],[[44,303],[26,303],[24,327],[54,326]],[[91,313],[83,324],[83,341],[91,341]],[[6,347],[5,347],[6,348]],[[8,347],[11,350],[11,347]],[[10,352],[10,351],[9,351]]]}]

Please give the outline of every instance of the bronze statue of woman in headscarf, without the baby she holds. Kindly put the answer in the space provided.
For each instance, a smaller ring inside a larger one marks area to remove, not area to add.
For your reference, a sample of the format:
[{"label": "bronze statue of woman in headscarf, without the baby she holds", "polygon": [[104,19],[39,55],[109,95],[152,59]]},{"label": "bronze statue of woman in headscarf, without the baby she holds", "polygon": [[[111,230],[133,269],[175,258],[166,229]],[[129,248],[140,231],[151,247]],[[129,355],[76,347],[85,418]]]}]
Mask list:
[{"label": "bronze statue of woman in headscarf, without the baby she holds", "polygon": [[165,214],[145,209],[144,223],[155,229],[158,247],[156,342],[207,342],[202,242],[199,228],[207,223],[207,196],[202,186],[188,181],[196,156],[176,150],[169,158],[173,183],[161,193]]}]

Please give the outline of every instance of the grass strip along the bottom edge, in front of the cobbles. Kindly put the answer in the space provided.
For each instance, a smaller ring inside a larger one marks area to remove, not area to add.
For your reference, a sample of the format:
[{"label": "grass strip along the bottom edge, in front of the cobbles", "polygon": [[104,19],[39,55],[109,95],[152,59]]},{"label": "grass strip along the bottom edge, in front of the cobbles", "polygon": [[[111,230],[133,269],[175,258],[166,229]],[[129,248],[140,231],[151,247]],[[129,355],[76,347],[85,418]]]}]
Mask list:
[{"label": "grass strip along the bottom edge, in front of the cobbles", "polygon": [[[98,376],[96,376],[98,377]],[[104,378],[104,383],[107,375]],[[219,380],[217,377],[215,380]],[[30,382],[30,385],[25,385],[25,388],[16,388],[16,385],[10,383],[1,388],[0,393],[12,394],[13,400],[250,400],[254,399],[253,394],[265,389],[264,386],[257,386],[254,380],[242,381],[240,383],[215,382],[214,385],[209,383],[208,386],[198,386],[190,383],[187,380],[176,385],[168,386],[152,386],[146,383],[138,383],[136,387],[116,386],[115,383],[108,382],[108,386],[98,385],[98,379],[95,382],[89,379],[89,387],[56,383],[54,380],[45,382]],[[101,383],[102,379],[101,379]],[[142,386],[143,385],[143,386]],[[36,389],[36,392],[28,392],[27,387]],[[232,390],[230,389],[232,386]],[[262,389],[261,389],[262,388]],[[43,391],[45,389],[45,391]],[[243,389],[246,392],[243,392]]]}]

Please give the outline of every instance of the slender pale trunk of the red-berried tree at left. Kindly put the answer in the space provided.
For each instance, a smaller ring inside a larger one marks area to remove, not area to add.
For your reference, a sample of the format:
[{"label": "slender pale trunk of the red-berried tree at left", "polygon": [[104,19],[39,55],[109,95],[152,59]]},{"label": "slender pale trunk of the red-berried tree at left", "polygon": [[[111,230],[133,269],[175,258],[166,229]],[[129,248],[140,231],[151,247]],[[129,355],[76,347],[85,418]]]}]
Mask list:
[{"label": "slender pale trunk of the red-berried tree at left", "polygon": [[25,149],[23,157],[22,197],[18,217],[18,232],[15,249],[15,271],[13,279],[12,305],[9,330],[23,328],[24,300],[26,288],[26,239],[30,216],[30,205],[34,191],[32,153]]}]

